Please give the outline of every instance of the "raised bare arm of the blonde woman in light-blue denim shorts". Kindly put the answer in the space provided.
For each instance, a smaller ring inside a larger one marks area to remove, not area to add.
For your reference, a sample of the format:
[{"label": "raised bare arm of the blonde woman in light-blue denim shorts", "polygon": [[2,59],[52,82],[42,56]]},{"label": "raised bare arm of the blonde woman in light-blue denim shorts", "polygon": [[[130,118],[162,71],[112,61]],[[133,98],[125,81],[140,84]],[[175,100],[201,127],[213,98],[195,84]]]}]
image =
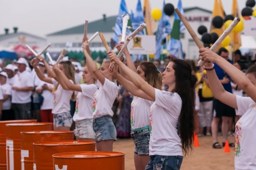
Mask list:
[{"label": "raised bare arm of the blonde woman in light-blue denim shorts", "polygon": [[88,69],[91,71],[91,73],[94,75],[94,78],[98,79],[99,82],[104,85],[105,83],[105,77],[99,72],[99,69],[97,68],[96,63],[93,61],[91,55],[89,54],[89,42],[85,41],[82,44],[83,47],[83,52],[85,54],[86,58],[86,65],[88,66]]}]

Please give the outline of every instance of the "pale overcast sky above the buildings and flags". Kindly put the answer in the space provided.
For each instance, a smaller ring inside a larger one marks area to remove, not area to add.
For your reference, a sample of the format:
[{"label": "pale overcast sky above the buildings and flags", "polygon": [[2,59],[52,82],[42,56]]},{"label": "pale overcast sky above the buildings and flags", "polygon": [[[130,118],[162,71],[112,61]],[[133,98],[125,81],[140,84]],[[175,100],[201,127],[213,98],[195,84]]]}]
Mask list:
[{"label": "pale overcast sky above the buildings and flags", "polygon": [[[177,6],[178,0],[165,0]],[[233,0],[222,0],[225,12],[230,14]],[[246,0],[237,0],[239,9]],[[18,31],[45,37],[48,33],[94,21],[102,14],[118,14],[121,0],[0,0],[0,34],[17,26]],[[135,10],[138,0],[126,0],[128,11]],[[141,0],[142,5],[144,0]],[[150,0],[152,8],[162,9],[163,0]],[[182,0],[183,7],[202,7],[213,10],[214,0]]]}]

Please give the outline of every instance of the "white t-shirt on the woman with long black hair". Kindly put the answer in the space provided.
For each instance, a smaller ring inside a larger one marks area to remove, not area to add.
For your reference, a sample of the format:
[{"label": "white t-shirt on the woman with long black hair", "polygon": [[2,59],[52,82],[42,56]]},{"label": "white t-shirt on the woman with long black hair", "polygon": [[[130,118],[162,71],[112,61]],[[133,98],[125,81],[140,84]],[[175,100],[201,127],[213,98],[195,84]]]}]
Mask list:
[{"label": "white t-shirt on the woman with long black hair", "polygon": [[150,107],[150,156],[183,156],[177,130],[181,107],[179,94],[155,89]]}]

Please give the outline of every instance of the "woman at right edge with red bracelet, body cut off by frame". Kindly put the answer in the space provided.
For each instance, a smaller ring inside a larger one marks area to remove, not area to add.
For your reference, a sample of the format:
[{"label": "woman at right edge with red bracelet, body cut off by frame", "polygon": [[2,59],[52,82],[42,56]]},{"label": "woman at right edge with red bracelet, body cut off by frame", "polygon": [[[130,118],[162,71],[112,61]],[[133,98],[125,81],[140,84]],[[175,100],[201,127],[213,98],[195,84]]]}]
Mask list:
[{"label": "woman at right edge with red bracelet, body cut off by frame", "polygon": [[[220,102],[237,109],[237,115],[242,116],[236,123],[236,143],[235,143],[235,170],[255,170],[256,169],[256,64],[247,70],[245,76],[242,71],[230,64],[226,59],[220,57],[209,48],[200,49],[201,59],[205,62],[204,67],[213,96]],[[216,63],[234,82],[241,87],[249,97],[242,97],[225,91],[218,80],[214,65]]]}]

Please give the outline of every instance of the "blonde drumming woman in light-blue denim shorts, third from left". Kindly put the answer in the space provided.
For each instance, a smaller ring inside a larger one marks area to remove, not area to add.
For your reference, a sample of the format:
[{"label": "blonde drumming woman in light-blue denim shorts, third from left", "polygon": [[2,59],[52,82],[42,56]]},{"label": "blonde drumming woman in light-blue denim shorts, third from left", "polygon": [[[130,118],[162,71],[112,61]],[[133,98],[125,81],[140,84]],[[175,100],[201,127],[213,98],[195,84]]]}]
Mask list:
[{"label": "blonde drumming woman in light-blue denim shorts, third from left", "polygon": [[114,76],[109,71],[110,61],[104,61],[99,70],[90,55],[89,42],[85,41],[82,47],[86,64],[94,78],[97,79],[97,87],[99,88],[94,94],[92,106],[93,130],[97,142],[97,151],[113,151],[116,127],[111,118],[114,115],[111,108],[118,94],[118,86],[113,82]]}]

